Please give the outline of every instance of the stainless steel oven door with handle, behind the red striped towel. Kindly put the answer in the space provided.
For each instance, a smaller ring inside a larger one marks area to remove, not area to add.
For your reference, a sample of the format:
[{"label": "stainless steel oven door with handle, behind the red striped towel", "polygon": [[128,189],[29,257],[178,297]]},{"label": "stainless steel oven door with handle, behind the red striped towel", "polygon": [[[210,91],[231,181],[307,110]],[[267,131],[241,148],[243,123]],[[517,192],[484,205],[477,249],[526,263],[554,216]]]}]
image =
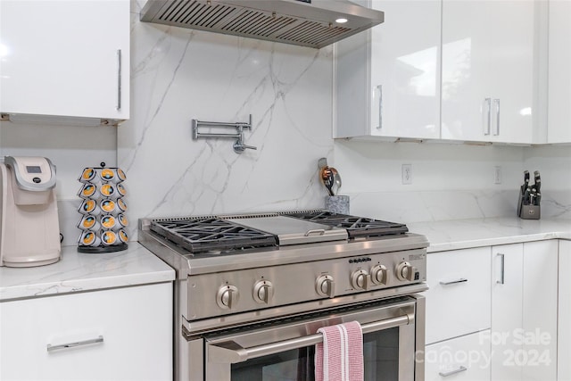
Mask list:
[{"label": "stainless steel oven door with handle, behind the red striped towel", "polygon": [[[366,381],[422,381],[424,298],[368,302],[205,337],[205,380],[314,380],[319,327],[358,321]],[[417,357],[415,357],[417,356]]]}]

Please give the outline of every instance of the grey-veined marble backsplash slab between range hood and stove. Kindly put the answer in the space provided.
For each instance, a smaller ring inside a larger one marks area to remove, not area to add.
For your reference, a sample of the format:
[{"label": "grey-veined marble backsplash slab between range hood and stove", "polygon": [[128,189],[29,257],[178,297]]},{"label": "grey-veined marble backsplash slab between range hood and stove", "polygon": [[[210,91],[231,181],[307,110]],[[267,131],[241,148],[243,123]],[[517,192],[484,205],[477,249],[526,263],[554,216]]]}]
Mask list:
[{"label": "grey-veined marble backsplash slab between range hood and stove", "polygon": [[[129,219],[324,207],[317,160],[333,153],[332,47],[167,27],[136,13],[131,22],[133,109],[118,129]],[[249,114],[244,140],[257,150],[192,138],[192,119]]]}]

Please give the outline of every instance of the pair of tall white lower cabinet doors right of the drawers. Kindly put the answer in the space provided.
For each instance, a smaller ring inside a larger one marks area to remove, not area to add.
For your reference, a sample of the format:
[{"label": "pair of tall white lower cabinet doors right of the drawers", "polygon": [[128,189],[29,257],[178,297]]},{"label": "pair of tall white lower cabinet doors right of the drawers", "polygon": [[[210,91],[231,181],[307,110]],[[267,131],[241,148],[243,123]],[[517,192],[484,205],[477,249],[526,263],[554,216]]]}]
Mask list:
[{"label": "pair of tall white lower cabinet doors right of the drawers", "polygon": [[557,379],[557,241],[492,247],[492,380]]}]

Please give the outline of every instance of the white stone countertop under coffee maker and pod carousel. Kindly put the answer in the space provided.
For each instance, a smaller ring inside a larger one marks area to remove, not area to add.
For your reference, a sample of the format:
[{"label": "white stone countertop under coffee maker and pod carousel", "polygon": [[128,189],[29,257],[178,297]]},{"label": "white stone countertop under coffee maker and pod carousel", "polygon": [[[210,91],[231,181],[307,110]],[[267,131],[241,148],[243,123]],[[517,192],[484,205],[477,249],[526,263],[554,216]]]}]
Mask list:
[{"label": "white stone countertop under coffee maker and pod carousel", "polygon": [[54,264],[0,268],[0,302],[174,279],[174,269],[137,242],[117,253],[78,253],[77,246],[63,246],[62,260]]}]

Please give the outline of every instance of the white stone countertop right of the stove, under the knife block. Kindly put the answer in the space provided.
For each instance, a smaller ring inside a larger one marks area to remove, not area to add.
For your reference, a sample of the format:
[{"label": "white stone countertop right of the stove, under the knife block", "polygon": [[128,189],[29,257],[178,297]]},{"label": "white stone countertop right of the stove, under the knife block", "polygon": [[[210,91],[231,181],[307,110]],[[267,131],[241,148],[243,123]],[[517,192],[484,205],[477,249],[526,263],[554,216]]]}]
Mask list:
[{"label": "white stone countertop right of the stove, under the knife block", "polygon": [[427,253],[546,239],[571,240],[571,219],[458,219],[407,224],[426,236]]}]

